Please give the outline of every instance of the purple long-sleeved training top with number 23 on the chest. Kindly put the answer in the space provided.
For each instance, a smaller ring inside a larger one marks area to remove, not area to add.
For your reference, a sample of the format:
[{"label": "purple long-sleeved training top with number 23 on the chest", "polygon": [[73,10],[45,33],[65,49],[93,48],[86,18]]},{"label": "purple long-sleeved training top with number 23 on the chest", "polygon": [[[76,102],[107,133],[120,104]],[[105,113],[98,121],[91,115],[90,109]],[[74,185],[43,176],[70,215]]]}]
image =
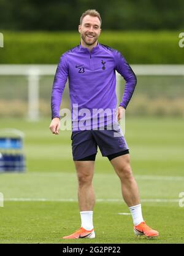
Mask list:
[{"label": "purple long-sleeved training top with number 23 on the chest", "polygon": [[82,45],[65,52],[59,60],[53,82],[52,118],[60,118],[61,98],[68,77],[73,131],[85,130],[79,129],[79,122],[86,130],[101,126],[101,114],[104,115],[105,125],[114,122],[117,109],[115,71],[126,80],[120,103],[126,109],[137,79],[120,52],[102,44],[91,52]]}]

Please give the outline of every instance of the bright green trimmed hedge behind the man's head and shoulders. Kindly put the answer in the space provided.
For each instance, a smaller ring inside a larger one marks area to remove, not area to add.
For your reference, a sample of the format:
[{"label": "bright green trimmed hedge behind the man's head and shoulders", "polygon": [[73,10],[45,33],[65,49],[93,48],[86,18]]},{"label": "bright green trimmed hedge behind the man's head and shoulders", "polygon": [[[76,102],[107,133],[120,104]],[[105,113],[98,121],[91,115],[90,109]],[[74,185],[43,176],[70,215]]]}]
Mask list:
[{"label": "bright green trimmed hedge behind the man's head and shoulders", "polygon": [[[56,64],[62,53],[80,42],[77,32],[1,32],[1,64]],[[180,32],[102,31],[99,42],[120,50],[131,64],[183,64],[184,48],[178,46]]]}]

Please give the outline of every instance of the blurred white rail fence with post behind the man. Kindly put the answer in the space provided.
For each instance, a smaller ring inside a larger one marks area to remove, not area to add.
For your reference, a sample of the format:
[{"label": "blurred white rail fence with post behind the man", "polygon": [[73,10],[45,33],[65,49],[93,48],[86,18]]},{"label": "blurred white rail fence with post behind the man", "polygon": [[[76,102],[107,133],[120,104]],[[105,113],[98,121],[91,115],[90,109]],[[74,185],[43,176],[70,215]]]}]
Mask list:
[{"label": "blurred white rail fence with post behind the man", "polygon": [[[131,65],[136,76],[184,76],[184,65],[136,64]],[[0,76],[26,76],[28,78],[28,118],[39,118],[40,76],[54,76],[56,65],[1,64]],[[117,73],[117,95],[122,77]]]}]

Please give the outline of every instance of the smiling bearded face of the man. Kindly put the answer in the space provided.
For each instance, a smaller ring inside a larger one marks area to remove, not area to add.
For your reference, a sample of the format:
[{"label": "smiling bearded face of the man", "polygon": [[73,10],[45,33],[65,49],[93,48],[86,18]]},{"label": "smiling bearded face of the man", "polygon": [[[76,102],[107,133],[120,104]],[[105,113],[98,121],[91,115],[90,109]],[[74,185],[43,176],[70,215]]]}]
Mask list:
[{"label": "smiling bearded face of the man", "polygon": [[86,45],[93,45],[101,33],[101,21],[98,17],[86,15],[79,25],[79,33]]}]

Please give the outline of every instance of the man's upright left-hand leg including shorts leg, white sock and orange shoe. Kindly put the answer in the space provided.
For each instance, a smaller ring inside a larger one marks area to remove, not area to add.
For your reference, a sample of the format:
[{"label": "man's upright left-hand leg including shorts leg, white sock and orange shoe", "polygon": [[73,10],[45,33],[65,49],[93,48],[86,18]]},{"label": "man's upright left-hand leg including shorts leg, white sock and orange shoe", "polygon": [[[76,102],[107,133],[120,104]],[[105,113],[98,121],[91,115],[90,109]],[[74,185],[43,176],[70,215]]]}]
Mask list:
[{"label": "man's upright left-hand leg including shorts leg, white sock and orange shoe", "polygon": [[98,145],[91,130],[72,131],[72,155],[78,178],[78,198],[81,227],[64,239],[95,238],[93,228],[93,208],[95,196],[93,190],[94,161]]}]

